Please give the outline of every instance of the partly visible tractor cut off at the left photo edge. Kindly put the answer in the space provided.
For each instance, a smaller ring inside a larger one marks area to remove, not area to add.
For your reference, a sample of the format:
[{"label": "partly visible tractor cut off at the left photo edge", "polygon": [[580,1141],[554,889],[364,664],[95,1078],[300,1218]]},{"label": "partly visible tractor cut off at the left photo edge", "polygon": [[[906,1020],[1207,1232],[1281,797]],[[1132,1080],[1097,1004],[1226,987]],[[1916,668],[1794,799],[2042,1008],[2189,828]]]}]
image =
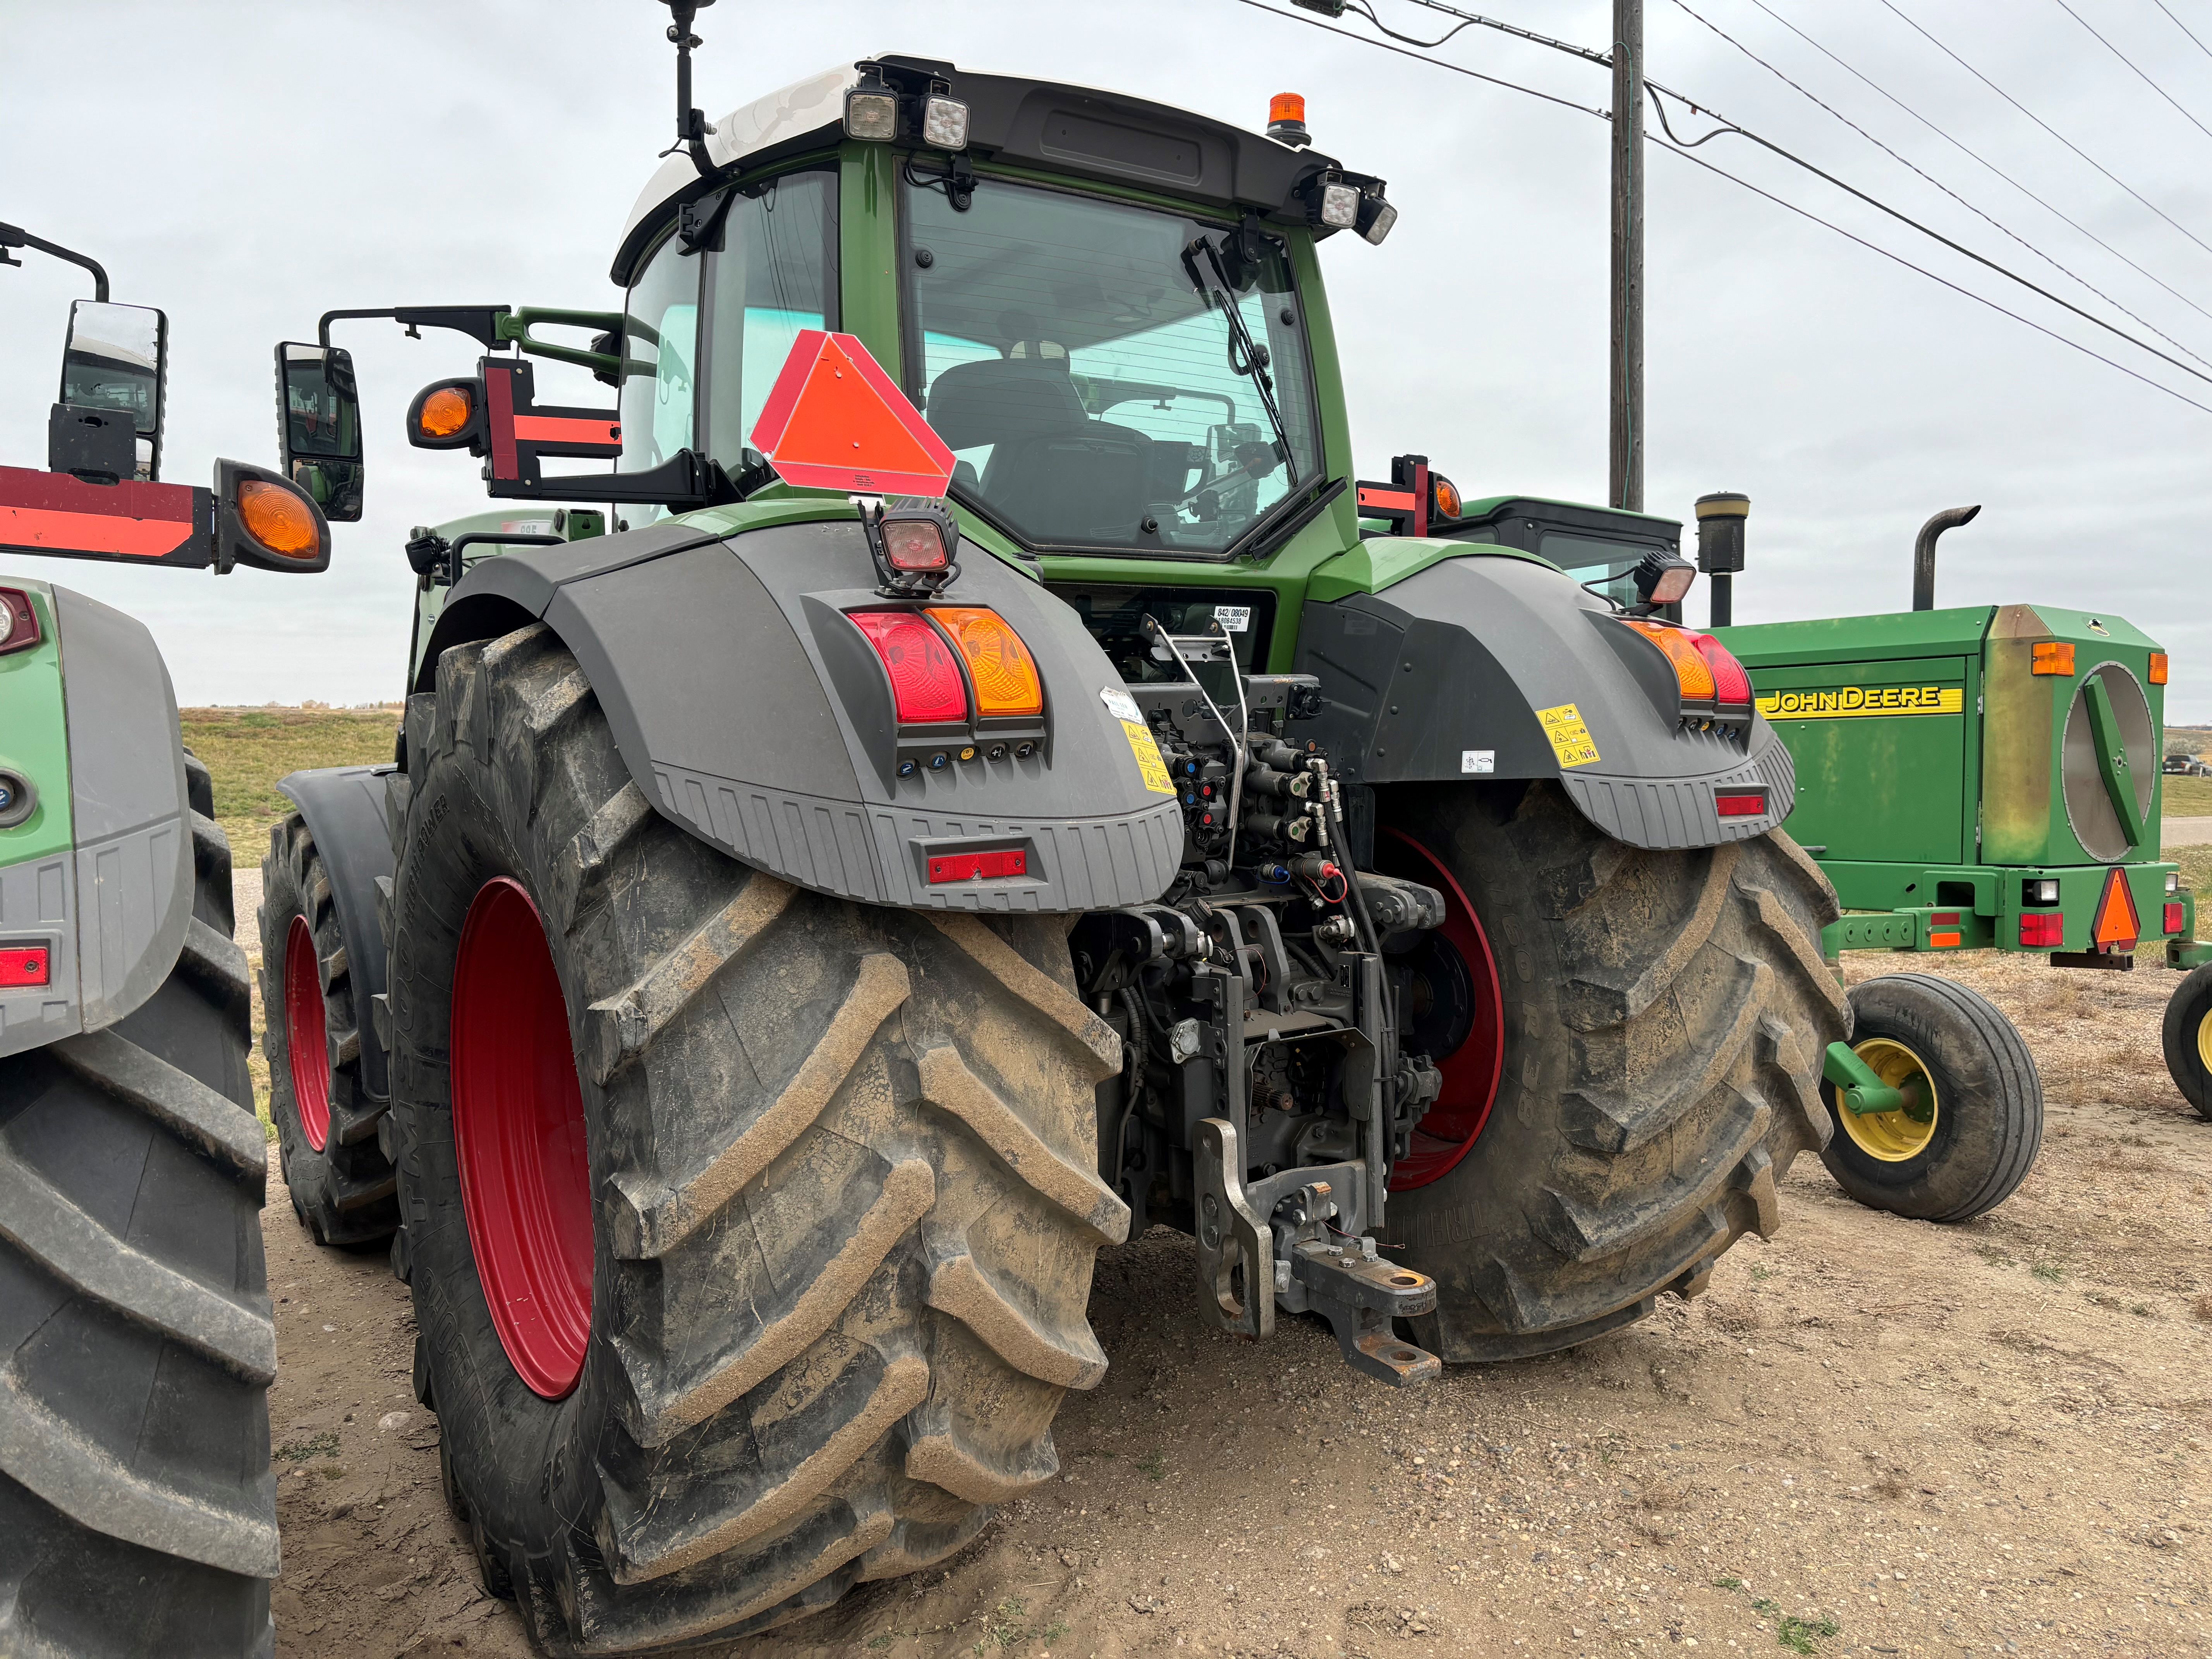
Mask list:
[{"label": "partly visible tractor cut off at the left photo edge", "polygon": [[[93,272],[49,467],[0,555],[321,571],[330,526],[230,460],[164,484],[168,321]],[[0,575],[0,1648],[268,1655],[276,1325],[246,951],[208,768],[153,635]]]}]

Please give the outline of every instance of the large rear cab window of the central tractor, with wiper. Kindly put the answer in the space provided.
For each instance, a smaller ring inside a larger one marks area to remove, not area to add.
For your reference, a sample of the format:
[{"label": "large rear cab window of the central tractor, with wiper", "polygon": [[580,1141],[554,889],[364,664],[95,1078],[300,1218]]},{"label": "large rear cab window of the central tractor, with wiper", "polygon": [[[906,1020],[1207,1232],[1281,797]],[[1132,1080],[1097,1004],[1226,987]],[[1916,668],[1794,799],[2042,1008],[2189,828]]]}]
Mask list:
[{"label": "large rear cab window of the central tractor, with wiper", "polygon": [[1219,555],[1318,480],[1274,237],[993,179],[960,212],[909,181],[902,263],[953,493],[1022,542]]}]

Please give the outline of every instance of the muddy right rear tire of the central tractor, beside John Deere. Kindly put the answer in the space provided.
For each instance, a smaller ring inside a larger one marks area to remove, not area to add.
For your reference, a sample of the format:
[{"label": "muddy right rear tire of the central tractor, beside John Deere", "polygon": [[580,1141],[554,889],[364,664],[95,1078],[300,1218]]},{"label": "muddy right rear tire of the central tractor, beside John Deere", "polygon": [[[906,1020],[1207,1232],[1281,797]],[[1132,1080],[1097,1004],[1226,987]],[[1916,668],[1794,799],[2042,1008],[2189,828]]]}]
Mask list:
[{"label": "muddy right rear tire of the central tractor, beside John Deere", "polygon": [[1553,783],[1391,790],[1378,823],[1383,869],[1447,887],[1444,931],[1471,911],[1462,938],[1495,960],[1489,1110],[1389,1197],[1387,1245],[1438,1283],[1416,1340],[1522,1358],[1703,1292],[1781,1225],[1776,1183],[1829,1133],[1820,1060],[1851,1015],[1818,865],[1778,832],[1641,852]]}]

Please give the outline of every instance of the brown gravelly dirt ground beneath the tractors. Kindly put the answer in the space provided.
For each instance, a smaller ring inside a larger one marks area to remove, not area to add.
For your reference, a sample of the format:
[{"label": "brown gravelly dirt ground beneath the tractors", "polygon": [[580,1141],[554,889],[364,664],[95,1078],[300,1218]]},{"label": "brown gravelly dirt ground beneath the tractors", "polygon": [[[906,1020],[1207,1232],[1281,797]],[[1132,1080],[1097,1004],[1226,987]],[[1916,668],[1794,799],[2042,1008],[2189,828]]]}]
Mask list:
[{"label": "brown gravelly dirt ground beneath the tractors", "polygon": [[[1416,1391],[1305,1321],[1210,1332],[1155,1232],[1099,1256],[1113,1369],[1068,1396],[1055,1482],[726,1652],[2212,1652],[2212,1124],[2159,1060],[2174,975],[1947,969],[2051,1097],[1997,1212],[1874,1214],[1805,1159],[1699,1301]],[[279,1652],[526,1655],[438,1493],[405,1287],[281,1197],[265,1234]]]}]

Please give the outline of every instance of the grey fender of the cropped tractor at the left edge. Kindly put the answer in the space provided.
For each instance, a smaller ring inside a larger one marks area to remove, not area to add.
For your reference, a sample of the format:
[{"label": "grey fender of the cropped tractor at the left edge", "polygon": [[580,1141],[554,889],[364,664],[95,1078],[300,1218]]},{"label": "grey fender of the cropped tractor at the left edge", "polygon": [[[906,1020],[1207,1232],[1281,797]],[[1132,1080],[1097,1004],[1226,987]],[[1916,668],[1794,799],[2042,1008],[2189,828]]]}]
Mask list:
[{"label": "grey fender of the cropped tractor at the left edge", "polygon": [[0,938],[46,945],[51,964],[49,984],[0,993],[0,1055],[133,1013],[177,967],[192,920],[168,666],[135,617],[71,588],[35,588],[60,648],[73,845],[0,867]]}]

